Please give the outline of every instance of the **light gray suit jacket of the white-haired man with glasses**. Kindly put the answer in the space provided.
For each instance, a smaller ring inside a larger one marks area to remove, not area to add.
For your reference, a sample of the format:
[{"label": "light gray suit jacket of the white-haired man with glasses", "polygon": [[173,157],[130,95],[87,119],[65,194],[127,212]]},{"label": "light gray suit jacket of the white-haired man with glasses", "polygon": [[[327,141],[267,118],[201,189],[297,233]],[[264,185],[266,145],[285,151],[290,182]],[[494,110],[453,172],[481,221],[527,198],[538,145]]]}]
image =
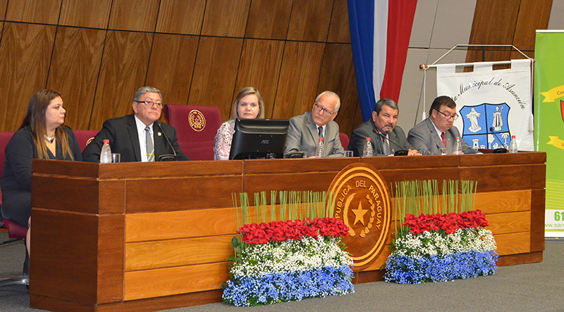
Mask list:
[{"label": "light gray suit jacket of the white-haired man with glasses", "polygon": [[[315,148],[319,140],[317,125],[312,118],[312,112],[308,111],[300,116],[290,118],[288,127],[288,138],[284,154],[294,151],[305,151],[307,157],[315,156]],[[345,149],[339,138],[339,125],[331,120],[325,128],[323,154],[324,157],[344,157]]]}]

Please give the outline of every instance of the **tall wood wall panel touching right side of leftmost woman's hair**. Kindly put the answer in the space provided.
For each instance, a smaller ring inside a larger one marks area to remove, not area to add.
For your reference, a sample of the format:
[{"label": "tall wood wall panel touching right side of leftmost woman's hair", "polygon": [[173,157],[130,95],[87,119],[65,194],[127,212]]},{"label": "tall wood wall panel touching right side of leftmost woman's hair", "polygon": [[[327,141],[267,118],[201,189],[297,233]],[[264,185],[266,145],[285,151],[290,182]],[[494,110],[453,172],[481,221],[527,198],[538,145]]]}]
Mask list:
[{"label": "tall wood wall panel touching right side of leftmost woman's hair", "polygon": [[57,30],[47,87],[61,92],[65,125],[73,129],[88,129],[105,37],[106,30]]}]

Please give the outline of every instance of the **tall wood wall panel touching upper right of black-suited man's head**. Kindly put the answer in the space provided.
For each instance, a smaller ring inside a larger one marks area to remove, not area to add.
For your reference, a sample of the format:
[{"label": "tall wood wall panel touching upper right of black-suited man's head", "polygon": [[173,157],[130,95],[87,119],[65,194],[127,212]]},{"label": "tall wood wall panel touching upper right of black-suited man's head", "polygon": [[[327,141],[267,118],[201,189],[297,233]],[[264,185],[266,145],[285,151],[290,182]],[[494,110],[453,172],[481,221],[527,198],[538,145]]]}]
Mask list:
[{"label": "tall wood wall panel touching upper right of black-suited man's head", "polygon": [[198,37],[155,34],[146,85],[161,90],[166,104],[188,103]]}]

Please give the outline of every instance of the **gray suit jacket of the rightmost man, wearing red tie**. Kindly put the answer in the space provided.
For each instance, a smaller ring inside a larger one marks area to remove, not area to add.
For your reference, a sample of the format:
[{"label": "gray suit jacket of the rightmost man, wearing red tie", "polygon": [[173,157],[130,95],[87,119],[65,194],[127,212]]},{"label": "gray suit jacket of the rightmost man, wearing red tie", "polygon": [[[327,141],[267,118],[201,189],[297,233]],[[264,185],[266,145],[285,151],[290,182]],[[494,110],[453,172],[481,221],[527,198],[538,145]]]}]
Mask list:
[{"label": "gray suit jacket of the rightmost man, wearing red tie", "polygon": [[[453,126],[445,132],[446,154],[453,154],[454,143],[457,137],[460,137],[458,128]],[[423,155],[440,155],[439,147],[443,147],[443,140],[437,135],[435,126],[429,118],[412,127],[407,134],[407,142],[417,149]],[[462,151],[464,154],[476,154],[478,151],[472,149],[462,139]]]}]

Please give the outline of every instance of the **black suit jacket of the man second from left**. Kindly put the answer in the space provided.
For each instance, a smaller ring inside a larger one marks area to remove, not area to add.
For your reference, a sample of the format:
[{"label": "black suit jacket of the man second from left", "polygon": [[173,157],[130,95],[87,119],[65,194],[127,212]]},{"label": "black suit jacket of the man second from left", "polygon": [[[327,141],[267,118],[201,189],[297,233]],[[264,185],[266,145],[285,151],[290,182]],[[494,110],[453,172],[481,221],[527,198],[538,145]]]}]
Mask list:
[{"label": "black suit jacket of the man second from left", "polygon": [[[158,122],[158,120],[157,120]],[[165,154],[173,154],[171,146],[168,145],[164,135],[157,122],[153,124],[153,144],[154,144],[154,158],[159,159],[159,156]],[[173,126],[161,123],[164,132],[172,146],[176,151],[179,161],[189,161],[190,158],[186,156],[180,149],[178,139],[176,139],[176,129]],[[104,121],[102,130],[98,132],[96,137],[88,144],[84,151],[82,151],[82,159],[84,161],[99,162],[100,151],[104,145],[104,139],[110,140],[110,147],[112,153],[121,154],[122,162],[141,161],[141,148],[139,144],[139,135],[137,134],[137,125],[135,125],[135,115],[111,118]]]}]

